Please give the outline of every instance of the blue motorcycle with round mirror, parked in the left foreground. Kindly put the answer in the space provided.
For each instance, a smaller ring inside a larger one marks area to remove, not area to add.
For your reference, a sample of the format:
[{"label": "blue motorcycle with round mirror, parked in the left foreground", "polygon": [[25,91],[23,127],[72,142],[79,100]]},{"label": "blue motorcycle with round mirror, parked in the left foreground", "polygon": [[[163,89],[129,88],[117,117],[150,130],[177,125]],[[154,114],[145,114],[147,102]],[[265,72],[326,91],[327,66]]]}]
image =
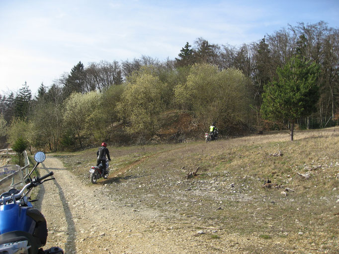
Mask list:
[{"label": "blue motorcycle with round mirror, parked in the left foreground", "polygon": [[[42,177],[31,174],[46,159],[43,152],[34,155],[36,164],[24,180],[20,167],[10,170],[0,168],[0,254],[64,254],[59,247],[43,250],[47,241],[47,223],[43,214],[33,207],[30,191],[53,176],[53,172]],[[45,180],[46,179],[46,180]],[[19,188],[21,188],[19,190]]]}]

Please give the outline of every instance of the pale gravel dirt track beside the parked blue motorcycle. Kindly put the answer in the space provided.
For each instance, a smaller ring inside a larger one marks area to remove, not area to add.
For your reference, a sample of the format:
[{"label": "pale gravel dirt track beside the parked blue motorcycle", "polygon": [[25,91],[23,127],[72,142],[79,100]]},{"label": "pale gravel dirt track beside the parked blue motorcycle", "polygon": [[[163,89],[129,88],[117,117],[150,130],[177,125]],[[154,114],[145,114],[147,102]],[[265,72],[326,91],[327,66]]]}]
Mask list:
[{"label": "pale gravel dirt track beside the parked blue motorcycle", "polygon": [[56,178],[42,185],[35,204],[47,220],[48,248],[66,254],[218,253],[196,231],[170,225],[157,211],[118,204],[105,194],[107,186],[85,186],[57,158],[47,156],[39,171]]}]

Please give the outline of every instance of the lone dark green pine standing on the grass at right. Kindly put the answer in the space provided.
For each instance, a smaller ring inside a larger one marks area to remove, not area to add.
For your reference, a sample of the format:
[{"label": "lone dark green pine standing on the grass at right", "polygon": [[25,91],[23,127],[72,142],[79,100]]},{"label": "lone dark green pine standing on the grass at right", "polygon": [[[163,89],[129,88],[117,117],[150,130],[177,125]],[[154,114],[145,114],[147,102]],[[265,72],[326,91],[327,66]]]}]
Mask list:
[{"label": "lone dark green pine standing on the grass at right", "polygon": [[317,110],[319,65],[292,58],[283,68],[277,69],[277,74],[277,81],[264,88],[261,114],[272,121],[288,120],[293,140],[297,119]]}]

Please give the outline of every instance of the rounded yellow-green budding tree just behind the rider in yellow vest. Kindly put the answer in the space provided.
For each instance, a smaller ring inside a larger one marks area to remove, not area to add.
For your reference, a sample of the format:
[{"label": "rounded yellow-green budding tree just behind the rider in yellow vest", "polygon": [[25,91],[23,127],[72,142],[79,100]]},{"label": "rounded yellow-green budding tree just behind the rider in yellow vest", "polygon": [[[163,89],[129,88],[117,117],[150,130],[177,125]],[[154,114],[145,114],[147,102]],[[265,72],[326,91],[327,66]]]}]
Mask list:
[{"label": "rounded yellow-green budding tree just behind the rider in yellow vest", "polygon": [[200,122],[224,127],[246,122],[248,79],[237,69],[219,70],[210,64],[194,64],[185,84],[175,89],[176,102],[192,110]]}]

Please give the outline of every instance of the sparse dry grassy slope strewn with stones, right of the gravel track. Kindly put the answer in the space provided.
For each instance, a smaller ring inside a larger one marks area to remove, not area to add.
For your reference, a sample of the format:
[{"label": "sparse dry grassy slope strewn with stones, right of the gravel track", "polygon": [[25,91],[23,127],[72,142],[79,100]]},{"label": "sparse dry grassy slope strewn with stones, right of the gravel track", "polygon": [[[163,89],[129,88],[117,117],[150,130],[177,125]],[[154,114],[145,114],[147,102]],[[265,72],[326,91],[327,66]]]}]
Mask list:
[{"label": "sparse dry grassy slope strewn with stones, right of the gravel track", "polygon": [[[87,185],[96,150],[56,156]],[[162,211],[172,230],[205,231],[196,237],[216,251],[339,253],[338,127],[296,131],[294,141],[271,132],[109,150],[113,170],[97,185],[121,205]]]}]

